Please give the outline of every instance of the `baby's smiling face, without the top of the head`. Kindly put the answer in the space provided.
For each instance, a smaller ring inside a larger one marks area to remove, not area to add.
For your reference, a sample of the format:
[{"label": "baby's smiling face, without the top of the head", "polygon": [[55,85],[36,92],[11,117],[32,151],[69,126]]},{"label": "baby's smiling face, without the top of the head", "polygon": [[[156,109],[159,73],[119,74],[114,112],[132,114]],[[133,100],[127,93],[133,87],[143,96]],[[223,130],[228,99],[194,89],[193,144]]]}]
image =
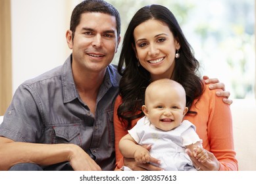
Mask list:
[{"label": "baby's smiling face, without the top of the head", "polygon": [[186,96],[176,89],[162,89],[150,91],[145,101],[146,116],[151,123],[164,131],[178,127],[187,112]]}]

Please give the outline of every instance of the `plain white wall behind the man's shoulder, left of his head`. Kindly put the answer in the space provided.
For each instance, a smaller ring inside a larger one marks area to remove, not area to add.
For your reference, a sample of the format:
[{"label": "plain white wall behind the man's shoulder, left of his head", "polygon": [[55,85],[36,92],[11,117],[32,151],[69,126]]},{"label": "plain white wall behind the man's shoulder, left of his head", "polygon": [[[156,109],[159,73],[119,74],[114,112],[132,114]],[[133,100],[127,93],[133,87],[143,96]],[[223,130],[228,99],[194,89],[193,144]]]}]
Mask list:
[{"label": "plain white wall behind the man's shoulder, left of his head", "polygon": [[11,0],[13,93],[25,80],[63,64],[66,30],[78,0]]}]

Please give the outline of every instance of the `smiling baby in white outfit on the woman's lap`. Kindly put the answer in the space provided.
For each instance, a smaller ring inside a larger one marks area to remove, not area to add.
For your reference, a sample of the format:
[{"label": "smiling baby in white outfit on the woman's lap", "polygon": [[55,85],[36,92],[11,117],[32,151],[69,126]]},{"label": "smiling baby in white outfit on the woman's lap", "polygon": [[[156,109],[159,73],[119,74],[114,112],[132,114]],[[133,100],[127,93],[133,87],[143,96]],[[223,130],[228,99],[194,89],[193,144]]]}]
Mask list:
[{"label": "smiling baby in white outfit on the woman's lap", "polygon": [[[140,164],[150,163],[151,157],[157,158],[163,170],[196,170],[186,149],[192,150],[200,162],[209,158],[195,126],[188,120],[182,121],[188,107],[180,83],[169,79],[153,81],[145,91],[142,110],[145,116],[119,142],[124,157],[135,158]],[[141,145],[149,145],[151,149]]]}]

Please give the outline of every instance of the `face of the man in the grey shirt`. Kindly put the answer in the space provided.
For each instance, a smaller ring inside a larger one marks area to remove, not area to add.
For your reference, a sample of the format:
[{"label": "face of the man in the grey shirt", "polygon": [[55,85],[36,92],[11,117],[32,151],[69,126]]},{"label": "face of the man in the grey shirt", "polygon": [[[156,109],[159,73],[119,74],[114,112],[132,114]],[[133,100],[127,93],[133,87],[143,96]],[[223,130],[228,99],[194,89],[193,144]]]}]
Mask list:
[{"label": "face of the man in the grey shirt", "polygon": [[80,24],[76,27],[74,38],[69,39],[68,47],[72,49],[76,66],[90,72],[101,72],[113,60],[119,42],[115,16],[86,12],[81,15]]}]

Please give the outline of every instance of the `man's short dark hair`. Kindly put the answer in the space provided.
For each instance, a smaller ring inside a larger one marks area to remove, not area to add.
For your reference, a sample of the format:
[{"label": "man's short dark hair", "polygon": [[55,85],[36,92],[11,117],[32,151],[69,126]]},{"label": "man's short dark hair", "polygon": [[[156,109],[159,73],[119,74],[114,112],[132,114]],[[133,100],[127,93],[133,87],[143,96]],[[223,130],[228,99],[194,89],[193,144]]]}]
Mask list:
[{"label": "man's short dark hair", "polygon": [[80,4],[76,5],[72,11],[71,20],[70,20],[70,30],[72,31],[72,39],[74,38],[74,33],[76,27],[80,23],[81,14],[85,12],[101,12],[115,16],[116,18],[116,32],[117,37],[119,37],[121,32],[121,20],[119,12],[113,7],[113,5],[107,3],[103,0],[85,0]]}]

